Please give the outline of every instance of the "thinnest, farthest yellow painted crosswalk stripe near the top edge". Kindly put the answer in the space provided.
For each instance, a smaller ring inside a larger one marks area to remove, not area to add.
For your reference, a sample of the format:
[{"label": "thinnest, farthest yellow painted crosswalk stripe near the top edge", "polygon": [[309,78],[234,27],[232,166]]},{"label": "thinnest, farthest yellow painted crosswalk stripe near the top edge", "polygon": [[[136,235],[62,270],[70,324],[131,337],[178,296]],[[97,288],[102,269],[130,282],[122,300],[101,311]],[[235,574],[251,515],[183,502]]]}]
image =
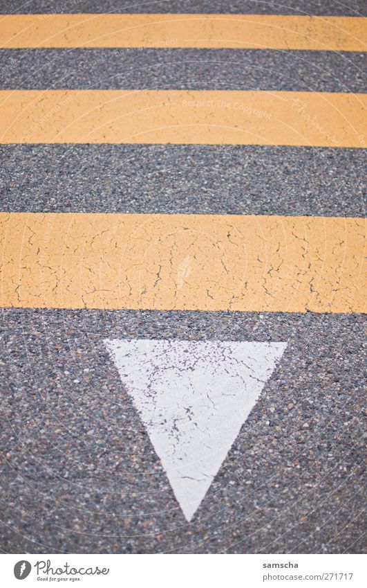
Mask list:
[{"label": "thinnest, farthest yellow painted crosswalk stripe near the top edge", "polygon": [[196,47],[366,51],[362,17],[7,15],[0,46]]}]

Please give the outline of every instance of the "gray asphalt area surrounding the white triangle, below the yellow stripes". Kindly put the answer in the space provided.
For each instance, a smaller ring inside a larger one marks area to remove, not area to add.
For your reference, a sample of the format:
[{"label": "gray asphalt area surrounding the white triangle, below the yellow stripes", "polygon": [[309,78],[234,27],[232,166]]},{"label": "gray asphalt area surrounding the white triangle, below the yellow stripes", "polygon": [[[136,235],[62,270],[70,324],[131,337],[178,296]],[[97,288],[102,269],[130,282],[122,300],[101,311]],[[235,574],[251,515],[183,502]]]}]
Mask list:
[{"label": "gray asphalt area surrounding the white triangle, below the yellow stripes", "polygon": [[[361,553],[363,325],[311,313],[3,311],[3,550]],[[191,524],[105,337],[288,341]]]}]

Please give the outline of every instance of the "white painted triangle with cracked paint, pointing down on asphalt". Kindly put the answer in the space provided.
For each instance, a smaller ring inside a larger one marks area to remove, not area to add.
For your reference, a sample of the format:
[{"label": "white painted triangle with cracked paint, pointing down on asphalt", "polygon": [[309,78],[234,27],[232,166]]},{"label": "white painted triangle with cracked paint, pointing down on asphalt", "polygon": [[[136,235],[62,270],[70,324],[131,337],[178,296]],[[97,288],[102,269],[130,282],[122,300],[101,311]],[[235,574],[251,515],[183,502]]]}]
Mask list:
[{"label": "white painted triangle with cracked paint, pointing down on asphalt", "polygon": [[287,344],[105,343],[190,521]]}]

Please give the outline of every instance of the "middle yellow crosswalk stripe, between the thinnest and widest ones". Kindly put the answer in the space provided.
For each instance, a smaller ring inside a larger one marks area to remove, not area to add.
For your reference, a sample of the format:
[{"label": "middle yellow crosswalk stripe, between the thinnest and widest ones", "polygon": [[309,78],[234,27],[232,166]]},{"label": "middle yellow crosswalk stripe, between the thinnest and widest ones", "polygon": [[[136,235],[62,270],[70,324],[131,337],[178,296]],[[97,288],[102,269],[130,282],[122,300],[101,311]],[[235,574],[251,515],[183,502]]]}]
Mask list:
[{"label": "middle yellow crosswalk stripe, between the thinnest and widest ones", "polygon": [[363,147],[367,94],[0,91],[0,143]]}]

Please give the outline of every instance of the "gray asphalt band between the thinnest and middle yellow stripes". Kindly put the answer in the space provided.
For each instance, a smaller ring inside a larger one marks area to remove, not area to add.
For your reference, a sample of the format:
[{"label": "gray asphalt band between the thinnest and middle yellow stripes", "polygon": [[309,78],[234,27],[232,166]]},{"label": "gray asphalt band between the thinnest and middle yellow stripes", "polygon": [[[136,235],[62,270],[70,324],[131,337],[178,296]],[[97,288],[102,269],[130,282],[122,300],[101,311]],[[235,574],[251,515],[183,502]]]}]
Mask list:
[{"label": "gray asphalt band between the thinnest and middle yellow stripes", "polygon": [[0,89],[366,91],[366,54],[238,49],[0,50]]}]

